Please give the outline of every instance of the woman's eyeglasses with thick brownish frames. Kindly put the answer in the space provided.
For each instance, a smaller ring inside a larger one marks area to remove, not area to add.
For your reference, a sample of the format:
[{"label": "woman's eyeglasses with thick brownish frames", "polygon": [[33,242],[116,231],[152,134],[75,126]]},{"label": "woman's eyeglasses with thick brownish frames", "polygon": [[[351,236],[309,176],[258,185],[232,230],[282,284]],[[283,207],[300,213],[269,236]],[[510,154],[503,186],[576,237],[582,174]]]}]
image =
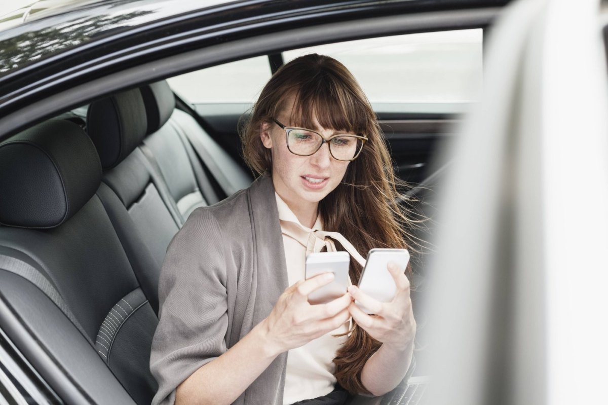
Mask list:
[{"label": "woman's eyeglasses with thick brownish frames", "polygon": [[316,131],[305,128],[287,128],[274,118],[278,126],[285,130],[287,135],[287,148],[298,156],[310,156],[316,153],[325,142],[328,143],[330,154],[338,161],[354,161],[361,153],[367,137],[350,134],[336,134],[325,139]]}]

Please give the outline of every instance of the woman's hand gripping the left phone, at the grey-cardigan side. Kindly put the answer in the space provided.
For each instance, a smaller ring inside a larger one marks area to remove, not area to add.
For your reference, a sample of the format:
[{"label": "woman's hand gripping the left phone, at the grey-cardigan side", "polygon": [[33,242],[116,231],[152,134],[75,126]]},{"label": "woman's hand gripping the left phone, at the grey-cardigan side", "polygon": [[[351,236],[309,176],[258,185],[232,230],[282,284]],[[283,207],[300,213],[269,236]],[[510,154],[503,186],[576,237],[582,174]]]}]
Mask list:
[{"label": "woman's hand gripping the left phone, at the grey-cardigan side", "polygon": [[333,331],[350,317],[350,294],[328,303],[311,305],[308,294],[333,281],[333,273],[316,275],[289,286],[278,298],[270,315],[263,320],[270,347],[278,353],[300,347]]}]

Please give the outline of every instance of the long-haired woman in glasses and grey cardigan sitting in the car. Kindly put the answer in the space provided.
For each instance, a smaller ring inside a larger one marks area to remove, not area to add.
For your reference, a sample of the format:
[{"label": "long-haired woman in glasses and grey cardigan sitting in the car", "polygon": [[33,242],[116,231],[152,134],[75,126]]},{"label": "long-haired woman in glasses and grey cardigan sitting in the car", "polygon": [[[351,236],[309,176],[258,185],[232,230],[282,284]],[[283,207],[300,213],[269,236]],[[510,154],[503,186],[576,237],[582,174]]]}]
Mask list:
[{"label": "long-haired woman in glasses and grey cardigan sitting in the car", "polygon": [[308,294],[331,275],[303,280],[307,251],[349,251],[356,285],[358,252],[406,247],[392,162],[367,98],[338,61],[306,55],[273,75],[242,137],[260,177],[195,210],[168,248],[153,403],[338,404],[347,392],[388,392],[409,367],[416,331],[399,263],[389,266],[398,288],[390,303],[350,286],[310,305]]}]

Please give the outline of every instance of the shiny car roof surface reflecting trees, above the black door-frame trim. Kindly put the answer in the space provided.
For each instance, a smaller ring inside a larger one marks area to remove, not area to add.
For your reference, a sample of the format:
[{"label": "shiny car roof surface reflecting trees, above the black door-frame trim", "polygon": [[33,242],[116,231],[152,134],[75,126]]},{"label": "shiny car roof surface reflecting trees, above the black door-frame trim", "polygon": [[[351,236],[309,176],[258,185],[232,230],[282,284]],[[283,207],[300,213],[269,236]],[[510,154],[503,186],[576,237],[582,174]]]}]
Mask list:
[{"label": "shiny car roof surface reflecting trees, above the black door-frame trim", "polygon": [[[314,13],[395,9],[412,12],[499,7],[510,0],[41,0],[22,11],[17,26],[0,26],[0,78],[74,47],[133,31],[136,27],[172,24],[200,15],[199,24]],[[32,13],[33,10],[37,10]],[[212,18],[206,18],[212,16]],[[13,19],[15,16],[13,15]]]}]

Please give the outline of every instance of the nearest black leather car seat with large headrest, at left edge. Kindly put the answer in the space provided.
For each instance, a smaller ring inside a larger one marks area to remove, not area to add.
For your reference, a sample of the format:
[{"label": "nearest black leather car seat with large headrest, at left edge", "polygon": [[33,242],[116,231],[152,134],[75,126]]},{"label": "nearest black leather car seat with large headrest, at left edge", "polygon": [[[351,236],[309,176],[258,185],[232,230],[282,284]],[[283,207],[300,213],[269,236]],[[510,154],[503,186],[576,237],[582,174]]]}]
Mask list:
[{"label": "nearest black leather car seat with large headrest, at left edge", "polygon": [[49,120],[0,145],[0,293],[72,388],[98,404],[147,404],[157,317],[101,179],[95,147],[74,123]]}]

